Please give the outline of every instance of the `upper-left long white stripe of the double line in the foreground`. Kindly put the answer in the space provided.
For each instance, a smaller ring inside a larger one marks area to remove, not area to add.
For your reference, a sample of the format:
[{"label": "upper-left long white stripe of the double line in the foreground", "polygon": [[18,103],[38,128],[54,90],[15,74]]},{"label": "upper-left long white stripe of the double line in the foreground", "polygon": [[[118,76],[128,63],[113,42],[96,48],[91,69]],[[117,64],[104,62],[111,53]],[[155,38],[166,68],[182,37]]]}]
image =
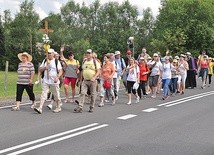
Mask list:
[{"label": "upper-left long white stripe of the double line in the foreground", "polygon": [[86,125],[86,126],[82,126],[82,127],[76,128],[76,129],[68,130],[68,131],[61,132],[61,133],[58,133],[58,134],[55,134],[55,135],[51,135],[51,136],[48,136],[48,137],[40,138],[40,139],[31,141],[31,142],[27,142],[27,143],[23,143],[23,144],[20,144],[20,145],[17,145],[17,146],[13,146],[13,147],[10,147],[10,148],[4,149],[4,150],[0,150],[0,154],[1,153],[5,153],[5,152],[9,152],[9,151],[12,151],[12,150],[15,150],[15,149],[19,149],[19,148],[22,148],[22,147],[25,147],[25,146],[28,146],[28,145],[32,145],[32,144],[35,144],[35,143],[38,143],[38,142],[42,142],[42,141],[45,141],[45,140],[49,140],[49,139],[52,139],[52,138],[63,136],[65,134],[70,134],[70,133],[73,133],[73,132],[76,132],[76,131],[79,131],[79,130],[83,130],[83,129],[86,129],[86,128],[89,128],[89,127],[92,127],[92,126],[95,126],[95,125],[98,125],[98,123],[89,124],[89,125]]}]

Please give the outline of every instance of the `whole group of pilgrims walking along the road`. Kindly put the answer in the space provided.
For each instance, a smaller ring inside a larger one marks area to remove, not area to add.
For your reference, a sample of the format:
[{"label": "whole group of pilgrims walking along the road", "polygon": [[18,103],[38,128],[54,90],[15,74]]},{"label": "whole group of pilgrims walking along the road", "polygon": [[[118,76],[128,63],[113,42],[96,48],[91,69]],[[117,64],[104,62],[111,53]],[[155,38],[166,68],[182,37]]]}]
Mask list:
[{"label": "whole group of pilgrims walking along the road", "polygon": [[[98,107],[103,107],[108,102],[115,105],[120,98],[119,89],[122,83],[128,105],[142,102],[147,97],[156,98],[159,93],[162,93],[162,99],[166,100],[170,96],[184,94],[186,88],[197,87],[196,81],[199,77],[200,87],[202,89],[209,87],[214,67],[214,59],[208,57],[205,50],[197,58],[194,58],[190,52],[172,57],[169,56],[168,51],[163,57],[159,52],[153,53],[151,57],[146,49],[142,48],[142,53],[137,59],[132,57],[131,50],[126,51],[124,58],[121,57],[120,51],[115,51],[105,54],[101,62],[97,54],[88,49],[81,65],[74,58],[74,52],[69,51],[66,56],[64,53],[63,47],[60,53],[49,49],[47,58],[39,67],[35,81],[35,84],[41,83],[42,87],[39,105],[35,103],[33,92],[35,68],[31,62],[32,56],[27,52],[18,54],[21,62],[17,70],[16,105],[12,107],[13,111],[20,110],[24,90],[32,101],[31,108],[39,114],[42,114],[43,105],[50,96],[51,102],[47,107],[53,109],[55,113],[62,111],[63,102],[76,103],[74,112],[81,113],[85,97],[88,97],[90,102],[89,112],[94,111],[97,96],[100,97]],[[64,86],[65,93],[63,101],[60,95],[61,86]],[[75,100],[75,95],[78,93],[78,98]]]}]

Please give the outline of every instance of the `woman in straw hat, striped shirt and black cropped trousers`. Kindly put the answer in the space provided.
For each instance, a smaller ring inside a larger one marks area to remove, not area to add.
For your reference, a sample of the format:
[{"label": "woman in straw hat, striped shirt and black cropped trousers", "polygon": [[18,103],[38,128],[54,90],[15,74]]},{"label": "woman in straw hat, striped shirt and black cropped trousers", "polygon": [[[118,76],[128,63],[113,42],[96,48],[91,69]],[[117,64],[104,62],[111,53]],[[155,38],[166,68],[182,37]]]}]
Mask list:
[{"label": "woman in straw hat, striped shirt and black cropped trousers", "polygon": [[13,111],[20,110],[20,103],[22,101],[22,95],[24,90],[27,91],[27,94],[32,101],[33,108],[35,106],[35,95],[33,93],[33,78],[35,74],[35,68],[32,61],[32,56],[27,52],[19,53],[18,58],[21,61],[18,65],[18,80],[16,87],[16,106],[12,107]]}]

